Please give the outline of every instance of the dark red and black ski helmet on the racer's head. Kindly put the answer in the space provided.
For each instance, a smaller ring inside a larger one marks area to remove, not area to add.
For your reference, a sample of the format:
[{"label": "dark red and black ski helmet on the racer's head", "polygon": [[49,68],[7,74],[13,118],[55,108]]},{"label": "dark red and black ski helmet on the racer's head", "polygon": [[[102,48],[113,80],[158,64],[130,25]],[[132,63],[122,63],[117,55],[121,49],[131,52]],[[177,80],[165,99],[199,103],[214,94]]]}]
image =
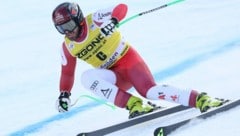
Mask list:
[{"label": "dark red and black ski helmet on the racer's head", "polygon": [[53,10],[52,20],[58,32],[65,34],[65,31],[72,32],[76,27],[81,30],[84,16],[78,4],[65,2]]}]

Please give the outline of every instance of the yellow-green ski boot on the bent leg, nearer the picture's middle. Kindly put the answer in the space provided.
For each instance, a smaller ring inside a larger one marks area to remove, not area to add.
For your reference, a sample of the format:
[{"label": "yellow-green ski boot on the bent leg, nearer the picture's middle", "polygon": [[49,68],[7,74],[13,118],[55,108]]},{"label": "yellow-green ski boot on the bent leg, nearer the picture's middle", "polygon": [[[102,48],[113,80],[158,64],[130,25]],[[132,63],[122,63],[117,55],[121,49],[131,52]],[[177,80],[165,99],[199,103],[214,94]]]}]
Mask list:
[{"label": "yellow-green ski boot on the bent leg, nearer the picture's middle", "polygon": [[154,111],[153,106],[143,105],[143,101],[135,96],[131,96],[126,106],[129,110],[129,119]]}]

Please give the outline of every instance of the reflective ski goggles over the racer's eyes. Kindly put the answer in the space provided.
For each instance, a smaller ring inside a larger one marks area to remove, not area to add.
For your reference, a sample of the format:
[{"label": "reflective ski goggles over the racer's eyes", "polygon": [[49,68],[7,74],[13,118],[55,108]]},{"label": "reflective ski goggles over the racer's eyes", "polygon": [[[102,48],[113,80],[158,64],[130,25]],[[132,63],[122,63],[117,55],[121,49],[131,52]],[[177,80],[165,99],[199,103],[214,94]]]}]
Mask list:
[{"label": "reflective ski goggles over the racer's eyes", "polygon": [[71,19],[70,21],[64,24],[55,25],[55,27],[57,28],[59,33],[65,34],[66,31],[72,32],[77,27],[77,24],[74,20]]}]

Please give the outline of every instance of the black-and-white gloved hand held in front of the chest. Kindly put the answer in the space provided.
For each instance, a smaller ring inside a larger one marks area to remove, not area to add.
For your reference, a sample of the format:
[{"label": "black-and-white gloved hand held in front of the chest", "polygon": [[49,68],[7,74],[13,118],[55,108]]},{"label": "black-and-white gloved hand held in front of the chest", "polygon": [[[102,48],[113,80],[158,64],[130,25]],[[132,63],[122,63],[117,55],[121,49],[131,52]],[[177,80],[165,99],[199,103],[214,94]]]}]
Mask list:
[{"label": "black-and-white gloved hand held in front of the chest", "polygon": [[101,31],[105,36],[108,36],[114,32],[114,29],[116,28],[117,25],[118,25],[118,20],[116,18],[111,18],[110,22],[102,24]]}]

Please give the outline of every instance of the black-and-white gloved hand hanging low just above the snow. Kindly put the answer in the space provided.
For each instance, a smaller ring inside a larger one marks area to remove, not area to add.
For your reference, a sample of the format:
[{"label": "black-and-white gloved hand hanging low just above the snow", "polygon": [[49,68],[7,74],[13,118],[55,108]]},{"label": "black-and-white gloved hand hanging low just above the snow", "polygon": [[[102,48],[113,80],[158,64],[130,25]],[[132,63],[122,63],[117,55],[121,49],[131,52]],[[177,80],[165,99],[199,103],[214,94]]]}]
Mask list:
[{"label": "black-and-white gloved hand hanging low just above the snow", "polygon": [[58,100],[56,101],[56,108],[59,112],[66,112],[69,110],[71,100],[69,98],[71,94],[69,92],[61,92]]}]

